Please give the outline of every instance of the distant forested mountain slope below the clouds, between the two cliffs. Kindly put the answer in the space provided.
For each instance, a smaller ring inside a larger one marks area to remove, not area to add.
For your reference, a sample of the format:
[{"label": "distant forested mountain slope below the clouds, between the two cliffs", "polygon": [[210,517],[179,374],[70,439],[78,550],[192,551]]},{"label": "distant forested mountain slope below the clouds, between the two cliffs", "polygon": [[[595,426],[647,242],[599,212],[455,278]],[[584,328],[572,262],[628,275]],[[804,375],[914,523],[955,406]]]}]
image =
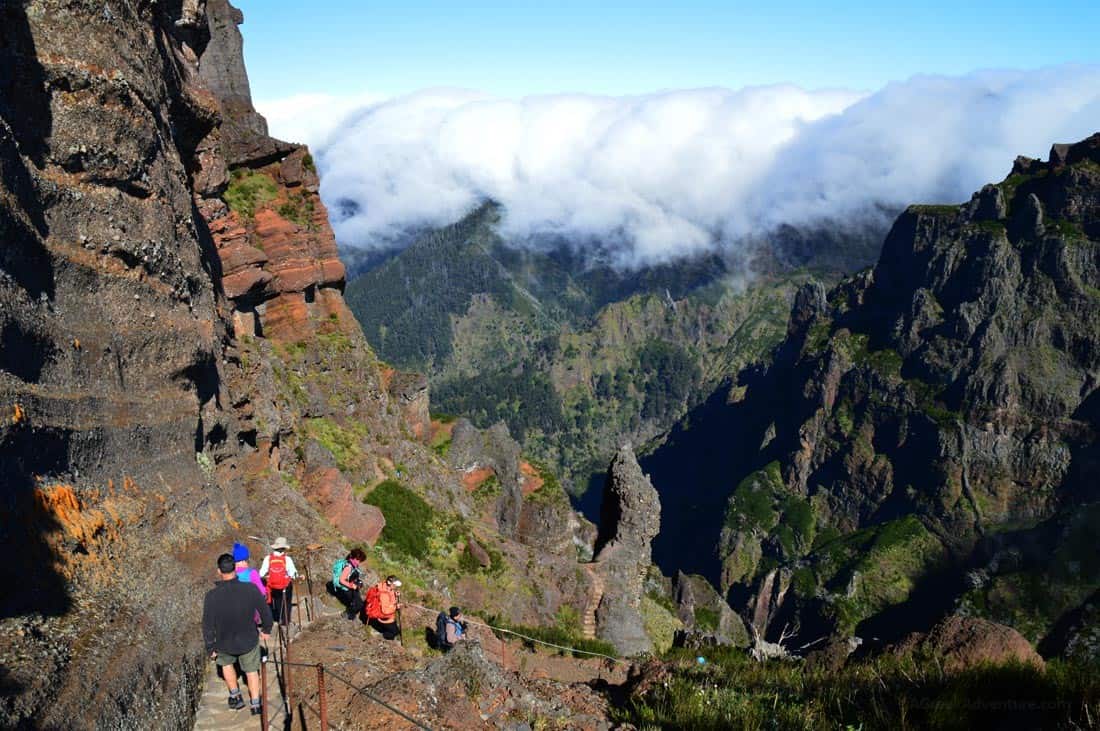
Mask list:
[{"label": "distant forested mountain slope below the clouds, between the two cliffs", "polygon": [[624,440],[656,438],[767,355],[810,276],[763,256],[755,266],[772,274],[748,283],[717,256],[622,272],[512,246],[499,215],[486,203],[420,236],[353,279],[348,301],[383,357],[427,370],[438,408],[507,422],[576,492]]}]

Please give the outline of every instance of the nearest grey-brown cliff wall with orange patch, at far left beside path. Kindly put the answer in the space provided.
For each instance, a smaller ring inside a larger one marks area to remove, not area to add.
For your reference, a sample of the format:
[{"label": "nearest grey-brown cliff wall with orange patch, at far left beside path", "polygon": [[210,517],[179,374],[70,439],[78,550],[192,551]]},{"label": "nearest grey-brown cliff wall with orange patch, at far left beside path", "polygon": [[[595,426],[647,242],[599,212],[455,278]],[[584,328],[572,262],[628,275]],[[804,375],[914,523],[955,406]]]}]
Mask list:
[{"label": "nearest grey-brown cliff wall with orange patch, at far left beside path", "polygon": [[195,182],[219,110],[178,4],[0,9],[4,726],[187,718],[185,549],[250,518],[196,458],[235,425]]}]

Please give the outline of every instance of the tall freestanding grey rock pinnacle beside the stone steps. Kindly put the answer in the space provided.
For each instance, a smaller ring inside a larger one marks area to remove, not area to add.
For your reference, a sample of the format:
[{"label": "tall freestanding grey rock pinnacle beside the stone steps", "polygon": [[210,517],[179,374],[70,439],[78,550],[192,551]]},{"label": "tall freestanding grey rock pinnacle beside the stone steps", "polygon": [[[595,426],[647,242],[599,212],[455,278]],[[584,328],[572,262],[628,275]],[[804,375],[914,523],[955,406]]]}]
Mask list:
[{"label": "tall freestanding grey rock pinnacle beside the stone steps", "polygon": [[634,450],[625,445],[608,469],[594,562],[604,580],[596,633],[624,655],[652,650],[639,608],[651,563],[650,542],[660,524],[657,490],[638,466]]}]

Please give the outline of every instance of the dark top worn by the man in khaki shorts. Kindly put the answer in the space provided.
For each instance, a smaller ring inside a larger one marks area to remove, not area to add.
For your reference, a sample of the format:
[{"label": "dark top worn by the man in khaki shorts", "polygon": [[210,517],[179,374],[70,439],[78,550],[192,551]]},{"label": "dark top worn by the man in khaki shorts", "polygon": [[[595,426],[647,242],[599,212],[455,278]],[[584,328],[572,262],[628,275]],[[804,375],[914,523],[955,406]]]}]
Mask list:
[{"label": "dark top worn by the man in khaki shorts", "polygon": [[218,582],[202,602],[202,641],[206,651],[243,655],[256,646],[256,612],[267,634],[272,631],[272,610],[254,584],[237,577]]}]

